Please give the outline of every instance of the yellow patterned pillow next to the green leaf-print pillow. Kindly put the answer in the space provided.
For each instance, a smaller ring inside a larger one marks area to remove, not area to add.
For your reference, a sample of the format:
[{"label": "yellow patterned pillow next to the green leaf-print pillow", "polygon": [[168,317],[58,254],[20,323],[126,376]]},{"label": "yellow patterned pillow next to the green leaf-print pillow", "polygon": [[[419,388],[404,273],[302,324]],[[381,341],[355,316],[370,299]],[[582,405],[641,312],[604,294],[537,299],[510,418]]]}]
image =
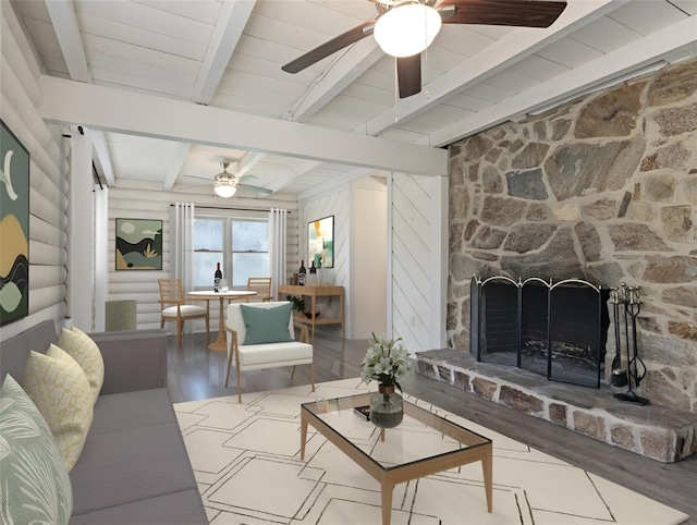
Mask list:
[{"label": "yellow patterned pillow next to the green leaf-print pillow", "polygon": [[22,387],[46,419],[70,471],[94,416],[87,376],[75,359],[51,344],[46,355],[29,352]]}]

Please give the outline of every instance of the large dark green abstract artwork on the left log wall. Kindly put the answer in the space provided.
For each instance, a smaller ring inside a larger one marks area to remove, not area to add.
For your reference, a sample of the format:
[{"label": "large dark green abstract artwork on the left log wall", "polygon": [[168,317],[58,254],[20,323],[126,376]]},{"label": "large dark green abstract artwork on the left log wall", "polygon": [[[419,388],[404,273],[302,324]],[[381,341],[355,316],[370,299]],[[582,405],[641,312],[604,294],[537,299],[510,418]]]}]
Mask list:
[{"label": "large dark green abstract artwork on the left log wall", "polygon": [[0,326],[29,314],[29,152],[0,121]]}]

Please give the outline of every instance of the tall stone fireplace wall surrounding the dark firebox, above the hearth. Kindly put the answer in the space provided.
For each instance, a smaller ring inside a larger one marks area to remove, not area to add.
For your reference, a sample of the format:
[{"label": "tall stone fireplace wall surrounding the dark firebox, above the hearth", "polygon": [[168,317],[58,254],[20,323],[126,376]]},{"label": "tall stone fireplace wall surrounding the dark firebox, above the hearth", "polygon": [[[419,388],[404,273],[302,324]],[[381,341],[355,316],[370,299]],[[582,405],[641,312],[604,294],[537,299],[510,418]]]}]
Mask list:
[{"label": "tall stone fireplace wall surrounding the dark firebox, above the hearth", "polygon": [[473,276],[626,282],[643,394],[697,413],[696,222],[696,60],[450,146],[449,346],[470,351]]}]

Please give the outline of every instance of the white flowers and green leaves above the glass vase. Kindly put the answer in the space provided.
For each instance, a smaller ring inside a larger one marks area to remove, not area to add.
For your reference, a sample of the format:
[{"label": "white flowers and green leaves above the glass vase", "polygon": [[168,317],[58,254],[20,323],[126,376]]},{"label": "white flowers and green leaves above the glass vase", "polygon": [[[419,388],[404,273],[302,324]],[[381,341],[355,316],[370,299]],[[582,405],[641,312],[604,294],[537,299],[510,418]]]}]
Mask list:
[{"label": "white flowers and green leaves above the glass vase", "polygon": [[398,380],[412,371],[412,361],[401,341],[402,338],[388,341],[372,333],[370,346],[360,363],[363,382],[369,383],[375,379],[380,384],[396,387],[402,391]]}]

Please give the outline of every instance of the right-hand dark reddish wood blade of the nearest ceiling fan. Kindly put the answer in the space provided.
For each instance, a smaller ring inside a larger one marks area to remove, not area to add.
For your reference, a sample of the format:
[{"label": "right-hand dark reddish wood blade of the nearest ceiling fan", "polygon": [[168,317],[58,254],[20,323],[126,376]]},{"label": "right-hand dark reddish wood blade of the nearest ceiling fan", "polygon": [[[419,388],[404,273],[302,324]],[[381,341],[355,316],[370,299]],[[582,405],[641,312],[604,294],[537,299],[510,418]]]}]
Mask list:
[{"label": "right-hand dark reddish wood blade of the nearest ceiling fan", "polygon": [[565,1],[543,0],[442,0],[438,9],[454,7],[443,24],[487,24],[523,27],[549,27],[566,8]]}]

